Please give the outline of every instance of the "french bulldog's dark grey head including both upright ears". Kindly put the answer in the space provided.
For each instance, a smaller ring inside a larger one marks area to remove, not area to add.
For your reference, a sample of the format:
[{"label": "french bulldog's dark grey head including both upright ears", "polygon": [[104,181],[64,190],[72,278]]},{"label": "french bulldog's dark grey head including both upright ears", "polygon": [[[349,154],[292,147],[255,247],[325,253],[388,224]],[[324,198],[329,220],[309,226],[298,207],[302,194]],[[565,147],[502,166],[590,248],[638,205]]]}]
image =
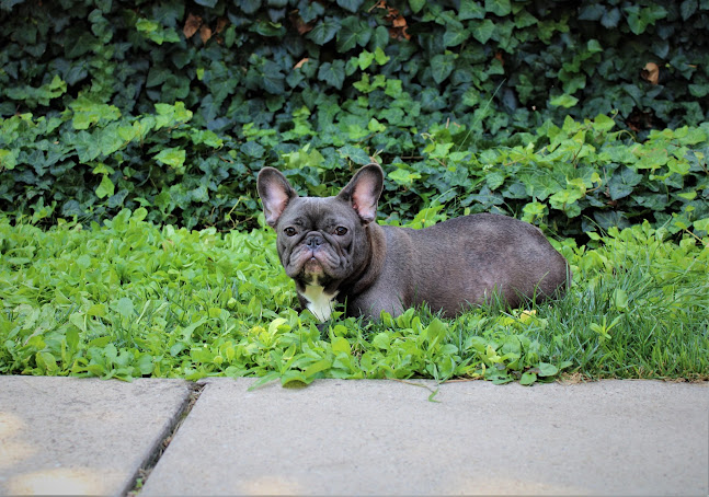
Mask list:
[{"label": "french bulldog's dark grey head including both upright ears", "polygon": [[381,167],[369,164],[334,197],[299,197],[281,172],[264,167],[259,196],[286,274],[301,286],[336,287],[361,270],[382,185]]}]

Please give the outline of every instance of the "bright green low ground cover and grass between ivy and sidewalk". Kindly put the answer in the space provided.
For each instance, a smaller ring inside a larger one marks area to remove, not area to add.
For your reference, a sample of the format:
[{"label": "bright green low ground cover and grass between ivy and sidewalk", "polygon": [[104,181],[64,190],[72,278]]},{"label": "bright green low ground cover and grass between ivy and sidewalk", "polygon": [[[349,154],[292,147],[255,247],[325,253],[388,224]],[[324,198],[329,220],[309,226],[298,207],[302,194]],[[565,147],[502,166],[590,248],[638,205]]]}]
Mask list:
[{"label": "bright green low ground cover and grass between ivy and sidewalk", "polygon": [[270,230],[49,230],[0,215],[0,373],[186,378],[709,379],[709,239],[649,224],[557,243],[574,282],[526,310],[381,323],[298,315]]}]

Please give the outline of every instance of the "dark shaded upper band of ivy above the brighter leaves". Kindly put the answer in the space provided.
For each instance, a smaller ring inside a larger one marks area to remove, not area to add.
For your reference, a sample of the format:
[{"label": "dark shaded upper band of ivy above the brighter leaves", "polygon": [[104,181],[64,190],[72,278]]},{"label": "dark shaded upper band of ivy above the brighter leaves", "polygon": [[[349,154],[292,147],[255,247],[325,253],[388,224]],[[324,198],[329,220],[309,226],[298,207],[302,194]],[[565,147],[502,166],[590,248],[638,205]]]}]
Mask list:
[{"label": "dark shaded upper band of ivy above the brighter leaves", "polygon": [[0,22],[3,116],[84,95],[287,129],[304,105],[335,117],[365,93],[385,112],[405,92],[413,118],[492,135],[616,109],[633,130],[707,120],[707,0],[2,0]]}]

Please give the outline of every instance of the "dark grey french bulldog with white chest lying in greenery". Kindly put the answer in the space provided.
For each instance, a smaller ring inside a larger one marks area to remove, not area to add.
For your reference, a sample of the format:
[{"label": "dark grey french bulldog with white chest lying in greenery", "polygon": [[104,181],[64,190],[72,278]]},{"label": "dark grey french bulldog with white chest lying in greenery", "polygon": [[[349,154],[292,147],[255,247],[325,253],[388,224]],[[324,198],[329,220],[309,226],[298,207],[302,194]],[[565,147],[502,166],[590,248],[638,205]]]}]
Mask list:
[{"label": "dark grey french bulldog with white chest lying in greenery", "polygon": [[265,220],[298,298],[320,321],[335,302],[375,321],[428,305],[446,317],[502,299],[511,308],[561,297],[567,261],[536,227],[478,213],[413,230],[375,221],[384,172],[369,164],[334,197],[300,197],[274,167],[259,173]]}]

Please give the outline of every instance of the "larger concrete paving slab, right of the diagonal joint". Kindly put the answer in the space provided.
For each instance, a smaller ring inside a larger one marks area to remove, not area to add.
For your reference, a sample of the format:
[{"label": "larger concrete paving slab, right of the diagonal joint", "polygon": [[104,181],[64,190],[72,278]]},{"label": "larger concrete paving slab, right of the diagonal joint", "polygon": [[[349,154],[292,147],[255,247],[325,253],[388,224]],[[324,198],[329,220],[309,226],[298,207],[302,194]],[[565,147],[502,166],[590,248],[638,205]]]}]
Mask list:
[{"label": "larger concrete paving slab, right of the diagonal joint", "polygon": [[150,495],[707,495],[707,384],[210,379]]}]

